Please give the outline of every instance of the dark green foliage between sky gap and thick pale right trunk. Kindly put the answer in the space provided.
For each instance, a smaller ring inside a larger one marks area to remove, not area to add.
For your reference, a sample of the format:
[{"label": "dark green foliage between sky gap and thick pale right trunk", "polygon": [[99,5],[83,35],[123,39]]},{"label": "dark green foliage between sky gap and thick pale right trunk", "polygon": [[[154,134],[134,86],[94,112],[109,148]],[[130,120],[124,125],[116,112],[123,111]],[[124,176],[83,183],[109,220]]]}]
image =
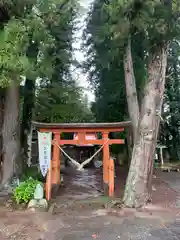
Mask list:
[{"label": "dark green foliage between sky gap and thick pale right trunk", "polygon": [[[105,4],[103,0],[94,1],[84,33],[85,48],[88,49],[87,62],[84,66],[85,70],[89,71],[89,82],[96,94],[92,110],[98,122],[117,122],[128,118],[123,66],[124,43],[127,36],[123,41],[114,39],[116,30],[121,30],[118,28],[119,25],[115,29],[117,19],[115,21],[114,18],[117,18],[117,15],[111,13],[112,8],[117,6],[118,4],[111,6],[111,2]],[[124,22],[121,22],[121,25],[125,27]],[[143,38],[143,33],[132,36],[139,99],[146,72]]]}]

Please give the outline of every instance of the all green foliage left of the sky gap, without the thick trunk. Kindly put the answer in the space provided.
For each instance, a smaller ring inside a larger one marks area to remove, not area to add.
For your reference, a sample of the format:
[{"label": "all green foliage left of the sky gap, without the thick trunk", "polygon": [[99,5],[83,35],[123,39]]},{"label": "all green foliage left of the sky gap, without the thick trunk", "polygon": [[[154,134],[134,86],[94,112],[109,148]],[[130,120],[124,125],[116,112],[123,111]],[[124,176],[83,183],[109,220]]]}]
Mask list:
[{"label": "all green foliage left of the sky gap, without the thick trunk", "polygon": [[[12,81],[19,84],[22,76],[27,80],[23,93],[23,134],[30,125],[25,122],[32,119],[34,103],[38,120],[92,121],[92,113],[83,103],[82,89],[70,73],[77,1],[19,0],[21,15],[18,9],[15,11],[13,1],[6,3],[9,19],[1,31],[0,87],[8,87]],[[3,3],[2,6],[5,7]],[[34,102],[37,78],[39,87]]]}]

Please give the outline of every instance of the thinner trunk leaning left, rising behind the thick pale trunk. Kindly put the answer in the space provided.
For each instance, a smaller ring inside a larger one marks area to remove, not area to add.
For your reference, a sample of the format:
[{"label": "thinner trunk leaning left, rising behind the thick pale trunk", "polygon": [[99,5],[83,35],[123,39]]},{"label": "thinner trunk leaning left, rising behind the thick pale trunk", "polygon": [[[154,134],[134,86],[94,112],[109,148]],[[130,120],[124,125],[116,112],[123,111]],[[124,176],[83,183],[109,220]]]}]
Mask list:
[{"label": "thinner trunk leaning left, rising behind the thick pale trunk", "polygon": [[137,98],[136,81],[134,76],[134,67],[131,52],[131,39],[128,39],[128,44],[124,54],[124,72],[126,84],[126,96],[128,103],[128,112],[132,121],[133,139],[136,138],[138,120],[139,120],[139,104]]}]

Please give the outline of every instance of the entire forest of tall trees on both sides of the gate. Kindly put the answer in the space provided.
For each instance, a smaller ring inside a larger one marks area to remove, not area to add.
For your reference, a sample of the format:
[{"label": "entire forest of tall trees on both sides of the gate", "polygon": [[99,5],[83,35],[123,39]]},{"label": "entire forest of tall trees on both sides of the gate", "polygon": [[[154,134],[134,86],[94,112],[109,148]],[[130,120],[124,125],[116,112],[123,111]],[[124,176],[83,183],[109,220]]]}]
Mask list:
[{"label": "entire forest of tall trees on both sides of the gate", "polygon": [[[0,2],[1,186],[26,167],[32,120],[131,120],[134,147],[124,202],[150,201],[157,141],[180,158],[180,4],[172,0],[94,0],[82,51],[73,56],[76,0]],[[90,104],[72,66],[88,73]],[[140,180],[142,180],[140,182]]]}]

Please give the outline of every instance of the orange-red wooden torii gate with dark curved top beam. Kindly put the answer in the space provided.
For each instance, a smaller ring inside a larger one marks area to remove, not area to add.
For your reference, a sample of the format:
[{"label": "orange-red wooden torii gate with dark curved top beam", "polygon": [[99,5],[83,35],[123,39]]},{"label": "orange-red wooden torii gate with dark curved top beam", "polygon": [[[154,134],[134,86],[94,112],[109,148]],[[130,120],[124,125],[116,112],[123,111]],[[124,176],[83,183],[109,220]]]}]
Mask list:
[{"label": "orange-red wooden torii gate with dark curved top beam", "polygon": [[[113,171],[112,161],[110,160],[109,145],[124,144],[124,139],[109,139],[111,132],[123,132],[125,128],[131,127],[131,122],[117,122],[117,123],[39,123],[33,122],[33,126],[41,132],[52,132],[54,138],[52,141],[53,151],[51,167],[46,177],[46,199],[50,200],[51,190],[53,185],[60,184],[60,148],[58,145],[81,145],[93,144],[103,146],[103,182],[105,194],[113,195],[112,186],[113,176],[109,176],[109,170]],[[101,133],[102,139],[86,140],[86,133]],[[78,140],[61,139],[62,133],[77,133]],[[54,144],[54,141],[57,144]]]}]

